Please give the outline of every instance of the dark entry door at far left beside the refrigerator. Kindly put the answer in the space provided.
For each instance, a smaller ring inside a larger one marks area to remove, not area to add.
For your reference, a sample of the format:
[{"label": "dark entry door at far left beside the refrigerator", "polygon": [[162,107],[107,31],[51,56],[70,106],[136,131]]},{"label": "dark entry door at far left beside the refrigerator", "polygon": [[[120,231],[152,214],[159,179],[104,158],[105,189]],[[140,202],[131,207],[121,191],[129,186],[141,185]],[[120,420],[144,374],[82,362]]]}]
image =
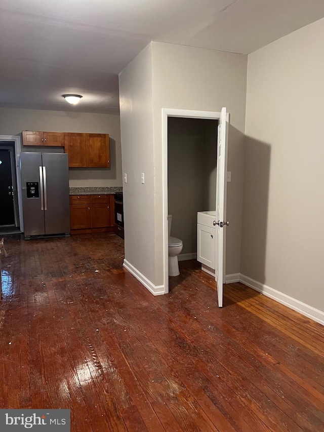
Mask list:
[{"label": "dark entry door at far left beside the refrigerator", "polygon": [[0,226],[15,225],[10,151],[0,150]]}]

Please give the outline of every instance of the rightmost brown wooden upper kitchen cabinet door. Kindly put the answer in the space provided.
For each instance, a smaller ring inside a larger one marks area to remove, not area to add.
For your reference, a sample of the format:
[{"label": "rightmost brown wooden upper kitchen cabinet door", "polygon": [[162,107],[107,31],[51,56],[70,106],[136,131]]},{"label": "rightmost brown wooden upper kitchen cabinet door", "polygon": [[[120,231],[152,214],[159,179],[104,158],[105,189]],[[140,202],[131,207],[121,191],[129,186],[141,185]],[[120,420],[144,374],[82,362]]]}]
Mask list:
[{"label": "rightmost brown wooden upper kitchen cabinet door", "polygon": [[85,134],[87,145],[87,167],[109,168],[110,149],[108,134]]}]

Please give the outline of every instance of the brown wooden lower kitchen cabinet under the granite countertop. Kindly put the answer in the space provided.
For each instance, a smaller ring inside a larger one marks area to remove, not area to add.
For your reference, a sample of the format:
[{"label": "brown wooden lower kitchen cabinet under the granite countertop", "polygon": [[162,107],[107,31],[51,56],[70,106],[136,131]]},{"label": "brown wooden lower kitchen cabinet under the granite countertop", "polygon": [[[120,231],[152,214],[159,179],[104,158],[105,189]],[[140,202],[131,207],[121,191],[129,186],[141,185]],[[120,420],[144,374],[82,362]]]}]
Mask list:
[{"label": "brown wooden lower kitchen cabinet under the granite countertop", "polygon": [[113,194],[70,195],[70,223],[71,234],[113,231]]}]

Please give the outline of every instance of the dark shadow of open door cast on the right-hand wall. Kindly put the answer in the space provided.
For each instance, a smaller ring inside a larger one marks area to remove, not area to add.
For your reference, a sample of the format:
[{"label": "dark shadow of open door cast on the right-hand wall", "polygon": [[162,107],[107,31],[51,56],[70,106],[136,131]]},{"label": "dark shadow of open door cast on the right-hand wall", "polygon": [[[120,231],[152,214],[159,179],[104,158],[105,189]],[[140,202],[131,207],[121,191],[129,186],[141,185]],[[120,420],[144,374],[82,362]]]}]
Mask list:
[{"label": "dark shadow of open door cast on the right-hand wall", "polygon": [[240,272],[260,283],[265,283],[270,158],[270,144],[246,137]]}]

